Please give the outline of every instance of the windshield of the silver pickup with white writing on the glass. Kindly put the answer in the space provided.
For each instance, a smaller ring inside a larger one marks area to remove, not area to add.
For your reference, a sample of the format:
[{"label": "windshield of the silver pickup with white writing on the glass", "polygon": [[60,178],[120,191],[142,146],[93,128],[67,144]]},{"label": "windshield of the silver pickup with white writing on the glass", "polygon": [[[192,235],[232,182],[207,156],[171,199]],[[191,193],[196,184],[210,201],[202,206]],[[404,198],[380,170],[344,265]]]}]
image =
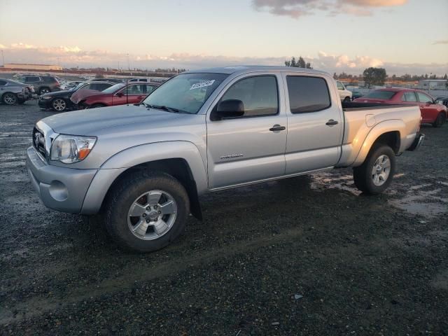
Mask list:
[{"label": "windshield of the silver pickup with white writing on the glass", "polygon": [[144,104],[195,114],[226,77],[224,73],[183,73],[160,85]]}]

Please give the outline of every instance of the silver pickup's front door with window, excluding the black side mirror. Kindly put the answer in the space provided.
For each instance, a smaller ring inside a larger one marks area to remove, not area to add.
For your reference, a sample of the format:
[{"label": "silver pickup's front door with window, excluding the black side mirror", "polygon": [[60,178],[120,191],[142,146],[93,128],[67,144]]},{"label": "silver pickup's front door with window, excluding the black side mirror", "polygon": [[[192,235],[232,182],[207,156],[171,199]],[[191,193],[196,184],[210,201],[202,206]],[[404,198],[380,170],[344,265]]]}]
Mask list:
[{"label": "silver pickup's front door with window, excluding the black side mirror", "polygon": [[[235,78],[207,116],[209,188],[260,181],[285,172],[286,114],[281,76],[266,73]],[[238,99],[244,115],[211,120],[219,102]]]}]

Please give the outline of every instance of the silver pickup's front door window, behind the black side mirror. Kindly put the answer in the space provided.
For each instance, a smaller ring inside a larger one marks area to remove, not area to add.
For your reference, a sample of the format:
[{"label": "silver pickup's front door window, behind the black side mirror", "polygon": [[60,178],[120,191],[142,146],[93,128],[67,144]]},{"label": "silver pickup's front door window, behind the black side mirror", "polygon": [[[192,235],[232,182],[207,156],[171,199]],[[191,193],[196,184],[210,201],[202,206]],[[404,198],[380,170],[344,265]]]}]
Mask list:
[{"label": "silver pickup's front door window, behind the black side mirror", "polygon": [[221,98],[241,100],[244,117],[271,116],[279,112],[279,92],[275,76],[256,76],[239,80]]}]

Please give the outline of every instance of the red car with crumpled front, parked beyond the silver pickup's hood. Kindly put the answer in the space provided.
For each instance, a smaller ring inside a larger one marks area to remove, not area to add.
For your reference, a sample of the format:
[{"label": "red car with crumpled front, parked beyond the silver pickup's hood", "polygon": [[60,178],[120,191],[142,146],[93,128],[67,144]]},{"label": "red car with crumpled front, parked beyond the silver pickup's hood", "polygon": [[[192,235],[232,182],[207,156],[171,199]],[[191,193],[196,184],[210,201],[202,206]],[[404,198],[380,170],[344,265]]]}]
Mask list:
[{"label": "red car with crumpled front, parked beyond the silver pickup's hood", "polygon": [[137,104],[158,86],[155,83],[129,83],[128,85],[118,83],[102,92],[80,90],[71,96],[71,101],[78,106],[78,109]]}]

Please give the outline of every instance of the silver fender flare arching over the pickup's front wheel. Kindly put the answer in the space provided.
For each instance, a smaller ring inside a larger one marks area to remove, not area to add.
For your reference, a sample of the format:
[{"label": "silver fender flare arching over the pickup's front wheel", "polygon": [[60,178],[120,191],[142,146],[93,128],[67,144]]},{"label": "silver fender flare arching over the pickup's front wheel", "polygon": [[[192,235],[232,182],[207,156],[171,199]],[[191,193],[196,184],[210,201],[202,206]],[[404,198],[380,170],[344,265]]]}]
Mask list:
[{"label": "silver fender flare arching over the pickup's front wheel", "polygon": [[81,214],[97,214],[112,183],[131,167],[165,159],[183,159],[190,167],[197,193],[208,188],[207,170],[195,144],[189,141],[165,141],[127,148],[106,160],[98,169],[84,197]]}]

